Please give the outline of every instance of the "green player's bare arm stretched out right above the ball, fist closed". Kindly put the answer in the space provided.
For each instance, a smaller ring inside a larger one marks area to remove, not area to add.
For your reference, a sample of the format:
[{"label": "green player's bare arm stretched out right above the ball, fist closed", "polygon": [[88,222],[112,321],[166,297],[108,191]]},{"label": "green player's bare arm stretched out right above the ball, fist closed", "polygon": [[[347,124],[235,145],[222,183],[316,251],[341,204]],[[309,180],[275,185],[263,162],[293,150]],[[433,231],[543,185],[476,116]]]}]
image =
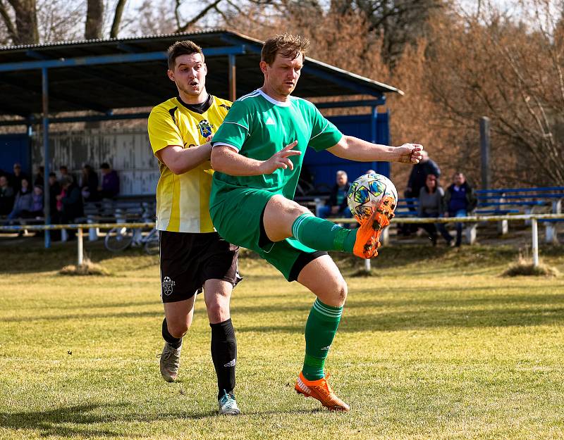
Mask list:
[{"label": "green player's bare arm stretched out right above the ball, fist closed", "polygon": [[357,162],[401,162],[419,163],[422,158],[423,146],[419,144],[403,144],[402,146],[388,146],[372,144],[353,136],[343,136],[341,140],[327,149],[337,157]]}]

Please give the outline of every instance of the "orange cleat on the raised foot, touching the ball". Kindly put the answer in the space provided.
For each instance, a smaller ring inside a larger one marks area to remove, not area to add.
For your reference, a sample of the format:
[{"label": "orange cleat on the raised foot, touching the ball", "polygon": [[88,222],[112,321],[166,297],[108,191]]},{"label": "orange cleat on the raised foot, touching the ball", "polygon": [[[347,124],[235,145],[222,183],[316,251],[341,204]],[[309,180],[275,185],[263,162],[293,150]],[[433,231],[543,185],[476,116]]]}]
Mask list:
[{"label": "orange cleat on the raised foot, touching the ball", "polygon": [[382,197],[372,215],[360,221],[357,231],[357,239],[353,253],[360,258],[374,258],[378,255],[380,246],[380,234],[384,227],[390,224],[393,218],[393,210],[396,209],[396,201],[391,196]]}]

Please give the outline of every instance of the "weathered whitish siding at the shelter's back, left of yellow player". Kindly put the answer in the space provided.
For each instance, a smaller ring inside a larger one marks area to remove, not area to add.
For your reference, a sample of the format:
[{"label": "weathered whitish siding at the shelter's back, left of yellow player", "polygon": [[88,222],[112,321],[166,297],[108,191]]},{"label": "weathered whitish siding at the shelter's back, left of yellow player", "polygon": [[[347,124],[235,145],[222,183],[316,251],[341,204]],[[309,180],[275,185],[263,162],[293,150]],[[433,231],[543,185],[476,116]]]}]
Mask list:
[{"label": "weathered whitish siding at the shelter's back, left of yellow player", "polygon": [[[88,164],[102,177],[99,166],[107,162],[118,172],[121,195],[155,194],[159,165],[153,156],[146,130],[51,133],[49,145],[49,168],[57,173],[61,165],[66,165],[80,178],[82,165]],[[43,144],[39,134],[32,142],[32,163],[43,163]]]}]

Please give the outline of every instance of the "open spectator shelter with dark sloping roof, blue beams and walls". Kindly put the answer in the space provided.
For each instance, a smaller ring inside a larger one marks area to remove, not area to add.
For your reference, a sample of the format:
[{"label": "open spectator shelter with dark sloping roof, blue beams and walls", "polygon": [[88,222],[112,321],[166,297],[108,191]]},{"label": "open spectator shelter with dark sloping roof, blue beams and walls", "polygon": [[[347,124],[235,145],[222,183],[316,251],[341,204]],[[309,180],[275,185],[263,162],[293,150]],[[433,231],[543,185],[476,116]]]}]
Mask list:
[{"label": "open spectator shelter with dark sloping roof, blue beams and walls", "polygon": [[[21,134],[0,135],[0,168],[10,170],[13,163],[20,162],[23,170],[30,172],[32,163],[43,161],[47,188],[49,168],[54,163],[49,148],[51,124],[147,118],[146,111],[136,113],[133,109],[155,106],[177,94],[165,74],[166,49],[180,39],[202,46],[210,93],[234,101],[262,86],[262,42],[223,29],[0,49],[0,126],[26,127]],[[369,109],[366,114],[329,119],[345,134],[389,144],[389,111],[378,111],[386,103],[386,93],[403,94],[395,87],[312,58],[306,58],[294,92],[321,109]],[[35,125],[42,126],[43,158],[31,157]],[[384,175],[390,171],[388,163],[354,163],[327,152],[305,156],[304,168],[314,175],[316,184],[326,188],[334,184],[338,169],[350,176],[361,175],[368,168]],[[44,194],[49,223],[49,191]]]}]

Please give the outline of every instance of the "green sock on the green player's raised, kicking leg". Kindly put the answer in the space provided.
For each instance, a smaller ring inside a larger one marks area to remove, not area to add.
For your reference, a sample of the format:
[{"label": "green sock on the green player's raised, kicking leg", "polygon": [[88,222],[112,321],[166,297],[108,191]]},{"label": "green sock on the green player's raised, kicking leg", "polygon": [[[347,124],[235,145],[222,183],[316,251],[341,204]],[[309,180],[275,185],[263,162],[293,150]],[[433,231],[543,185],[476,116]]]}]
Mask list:
[{"label": "green sock on the green player's raised, kicking leg", "polygon": [[353,252],[357,231],[307,213],[296,218],[292,225],[294,238],[318,251]]}]

